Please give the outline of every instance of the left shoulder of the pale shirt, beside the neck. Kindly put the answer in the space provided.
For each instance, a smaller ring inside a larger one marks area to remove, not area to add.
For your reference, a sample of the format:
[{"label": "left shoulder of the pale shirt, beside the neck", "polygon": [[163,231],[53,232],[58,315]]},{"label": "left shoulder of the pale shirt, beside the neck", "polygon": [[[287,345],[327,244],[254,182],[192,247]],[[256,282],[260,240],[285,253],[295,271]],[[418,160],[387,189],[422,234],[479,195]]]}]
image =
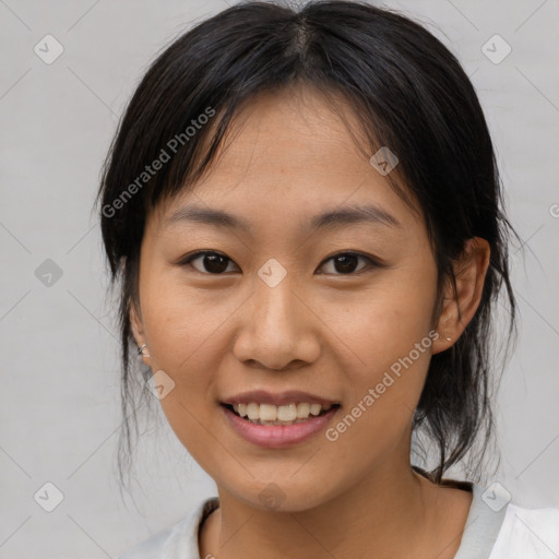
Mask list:
[{"label": "left shoulder of the pale shirt, beside the neck", "polygon": [[218,507],[218,499],[211,497],[199,502],[183,519],[134,547],[117,559],[199,559],[198,530],[203,519]]}]

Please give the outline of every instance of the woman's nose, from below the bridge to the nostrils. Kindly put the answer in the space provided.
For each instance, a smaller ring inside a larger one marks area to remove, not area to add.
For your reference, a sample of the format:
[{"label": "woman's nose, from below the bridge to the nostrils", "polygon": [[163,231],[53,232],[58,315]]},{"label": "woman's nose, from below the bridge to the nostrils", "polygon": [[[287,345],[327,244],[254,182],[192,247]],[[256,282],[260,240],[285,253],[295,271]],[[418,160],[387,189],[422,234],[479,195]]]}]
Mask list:
[{"label": "woman's nose, from below the bridge to the nostrils", "polygon": [[300,289],[284,278],[275,287],[257,282],[240,312],[234,355],[245,365],[284,370],[313,362],[320,354],[320,320]]}]

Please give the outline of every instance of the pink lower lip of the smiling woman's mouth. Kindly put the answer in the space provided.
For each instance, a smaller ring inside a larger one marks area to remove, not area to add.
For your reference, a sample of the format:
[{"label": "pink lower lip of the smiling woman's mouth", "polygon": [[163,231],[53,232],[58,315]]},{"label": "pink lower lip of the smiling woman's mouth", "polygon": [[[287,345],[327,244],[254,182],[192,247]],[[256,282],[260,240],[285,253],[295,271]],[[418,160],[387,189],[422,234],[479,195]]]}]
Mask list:
[{"label": "pink lower lip of the smiling woman's mouth", "polygon": [[246,440],[266,449],[283,449],[311,438],[324,429],[340,407],[332,407],[324,415],[309,417],[304,423],[293,425],[258,425],[242,419],[229,408],[221,405],[233,428]]}]

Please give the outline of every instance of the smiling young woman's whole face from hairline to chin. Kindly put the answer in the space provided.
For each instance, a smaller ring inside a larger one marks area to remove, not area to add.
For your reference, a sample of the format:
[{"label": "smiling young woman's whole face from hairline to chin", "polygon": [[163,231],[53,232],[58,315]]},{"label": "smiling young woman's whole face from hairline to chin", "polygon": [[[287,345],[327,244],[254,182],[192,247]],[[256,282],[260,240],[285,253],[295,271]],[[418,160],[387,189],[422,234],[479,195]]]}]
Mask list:
[{"label": "smiling young woman's whole face from hairline to chin", "polygon": [[[219,490],[292,511],[409,467],[413,411],[440,350],[423,217],[328,104],[301,95],[253,100],[211,173],[148,216],[131,314],[146,362],[164,371],[170,426]],[[246,227],[180,213],[194,206]],[[368,217],[317,222],[356,206]],[[254,426],[224,406],[270,403],[249,391],[305,393],[277,401],[282,417],[310,409],[289,403],[337,405]]]}]

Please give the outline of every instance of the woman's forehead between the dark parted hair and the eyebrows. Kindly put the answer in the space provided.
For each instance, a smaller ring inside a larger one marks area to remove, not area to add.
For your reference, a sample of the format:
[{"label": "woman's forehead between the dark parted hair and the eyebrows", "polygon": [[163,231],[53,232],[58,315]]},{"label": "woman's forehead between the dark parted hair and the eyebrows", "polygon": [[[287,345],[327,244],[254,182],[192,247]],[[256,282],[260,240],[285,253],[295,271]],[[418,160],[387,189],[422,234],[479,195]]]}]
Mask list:
[{"label": "woman's forehead between the dark parted hair and the eyebrows", "polygon": [[[203,178],[158,209],[157,230],[190,217],[254,233],[258,223],[289,216],[287,227],[297,215],[316,228],[332,222],[336,210],[353,212],[354,222],[413,225],[417,216],[369,163],[358,118],[344,100],[333,109],[309,90],[251,99]],[[396,169],[392,174],[399,180]]]}]

